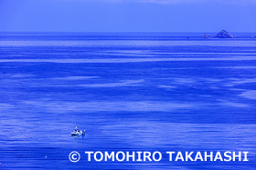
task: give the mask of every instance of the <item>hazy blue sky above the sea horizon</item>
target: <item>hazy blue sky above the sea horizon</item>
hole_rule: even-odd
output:
[[[0,0],[0,31],[256,32],[256,0]]]

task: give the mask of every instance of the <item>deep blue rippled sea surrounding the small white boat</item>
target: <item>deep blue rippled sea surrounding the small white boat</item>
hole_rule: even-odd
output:
[[[201,35],[1,33],[0,169],[254,170],[256,34]],[[86,135],[72,137],[76,126]],[[163,159],[89,162],[85,151]],[[170,162],[166,151],[249,161]]]

